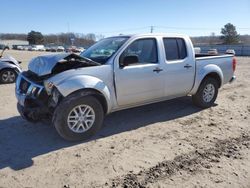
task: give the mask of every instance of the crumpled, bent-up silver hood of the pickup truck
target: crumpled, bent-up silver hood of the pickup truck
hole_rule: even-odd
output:
[[[60,53],[52,55],[44,55],[33,58],[29,63],[29,70],[37,76],[45,76],[52,73],[52,69],[61,60],[66,59],[83,59],[83,57],[72,53]]]

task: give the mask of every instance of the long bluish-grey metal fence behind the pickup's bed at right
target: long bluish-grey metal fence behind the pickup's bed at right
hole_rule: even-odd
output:
[[[206,45],[197,46],[201,53],[207,53],[209,49],[217,49],[219,53],[225,53],[228,49],[234,49],[237,56],[250,56],[250,45]]]

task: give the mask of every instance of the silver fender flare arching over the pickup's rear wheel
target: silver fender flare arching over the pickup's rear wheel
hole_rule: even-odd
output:
[[[216,74],[220,78],[221,85],[223,84],[224,76],[221,68],[215,64],[206,65],[201,70],[199,70],[199,72],[196,73],[195,83],[193,89],[190,92],[191,95],[195,94],[198,91],[201,82],[206,76],[210,74]]]

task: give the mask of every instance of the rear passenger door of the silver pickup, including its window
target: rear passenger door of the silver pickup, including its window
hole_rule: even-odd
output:
[[[195,61],[188,44],[183,38],[163,38],[165,96],[184,96],[193,87]]]

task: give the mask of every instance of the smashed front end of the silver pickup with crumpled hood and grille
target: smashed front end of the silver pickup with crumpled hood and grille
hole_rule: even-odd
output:
[[[51,120],[63,96],[47,80],[61,72],[82,67],[97,66],[89,59],[76,54],[57,54],[34,58],[29,70],[22,72],[16,81],[17,109],[21,116],[32,122]]]

